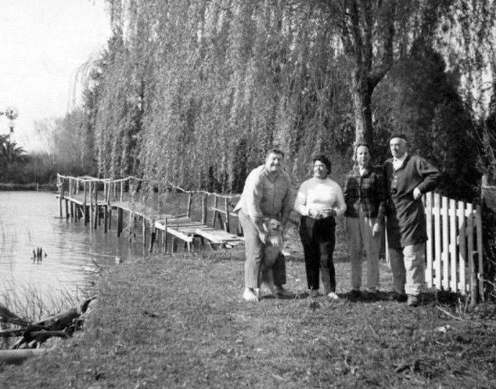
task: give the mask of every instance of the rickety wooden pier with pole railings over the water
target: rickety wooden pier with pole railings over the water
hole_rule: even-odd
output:
[[[161,252],[174,253],[178,241],[187,251],[194,249],[195,240],[211,248],[229,248],[243,242],[239,226],[236,234],[231,233],[231,222],[237,222],[237,215],[231,209],[239,194],[185,191],[169,186],[166,192],[157,193],[152,199],[138,192],[141,184],[141,179],[136,177],[98,179],[57,174],[59,217],[64,217],[65,209],[65,218],[83,219],[95,229],[103,225],[107,232],[112,228],[112,215],[116,215],[114,225],[118,237],[125,230],[127,218],[130,241],[141,224],[143,246],[148,244],[149,252],[160,247]],[[176,197],[185,198],[185,205]],[[223,208],[219,206],[220,201]],[[194,203],[199,203],[196,208]],[[172,243],[170,248],[169,243]]]

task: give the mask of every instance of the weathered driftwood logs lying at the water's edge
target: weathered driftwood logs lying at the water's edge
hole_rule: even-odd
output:
[[[19,328],[0,330],[0,338],[19,337],[10,350],[0,350],[0,363],[21,363],[32,355],[40,355],[49,348],[39,346],[52,337],[70,337],[81,327],[83,318],[91,301],[96,296],[83,301],[79,306],[63,310],[55,315],[37,321],[28,321],[0,304],[0,321],[14,324]]]

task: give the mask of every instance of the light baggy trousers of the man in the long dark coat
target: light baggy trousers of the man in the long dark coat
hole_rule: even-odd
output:
[[[393,272],[393,288],[407,295],[417,296],[425,283],[426,243],[404,248],[389,248],[389,261]]]

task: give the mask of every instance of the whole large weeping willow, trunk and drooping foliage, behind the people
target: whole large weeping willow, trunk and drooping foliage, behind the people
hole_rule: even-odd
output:
[[[273,146],[301,179],[312,154],[371,143],[371,97],[391,67],[433,46],[468,74],[494,15],[489,0],[107,3],[114,38],[93,104],[101,173],[223,191]]]

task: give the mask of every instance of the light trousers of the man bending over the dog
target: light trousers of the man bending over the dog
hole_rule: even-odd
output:
[[[260,288],[265,243],[260,240],[255,223],[242,210],[238,213],[238,219],[245,237],[245,287]],[[273,277],[276,286],[282,286],[286,283],[286,259],[284,255],[280,255],[276,260],[273,267]]]

